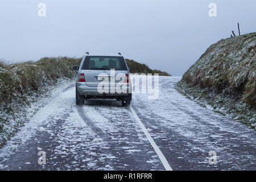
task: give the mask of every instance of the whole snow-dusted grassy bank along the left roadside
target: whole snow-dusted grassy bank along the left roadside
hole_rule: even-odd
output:
[[[36,62],[0,63],[0,146],[26,121],[26,110],[61,82],[73,80],[81,59],[43,58]]]

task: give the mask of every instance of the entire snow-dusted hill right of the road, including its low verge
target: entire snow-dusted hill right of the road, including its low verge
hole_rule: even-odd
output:
[[[256,32],[222,39],[184,73],[178,89],[222,114],[255,126]]]

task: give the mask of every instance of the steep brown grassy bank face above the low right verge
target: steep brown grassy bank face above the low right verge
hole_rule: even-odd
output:
[[[256,33],[222,39],[184,73],[181,82],[224,92],[256,106]]]

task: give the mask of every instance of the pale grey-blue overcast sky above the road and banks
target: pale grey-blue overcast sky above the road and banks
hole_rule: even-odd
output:
[[[46,17],[38,16],[41,2]],[[181,76],[238,22],[243,34],[255,32],[255,8],[255,0],[0,0],[0,59],[122,52]]]

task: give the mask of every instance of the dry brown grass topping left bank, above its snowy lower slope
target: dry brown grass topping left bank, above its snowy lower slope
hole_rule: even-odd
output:
[[[16,96],[26,97],[34,93],[43,93],[44,87],[54,85],[58,78],[72,78],[76,72],[72,70],[73,65],[79,64],[81,59],[68,57],[48,58],[45,57],[36,62],[25,62],[5,65],[0,74],[0,105],[1,109],[10,107],[17,102]],[[26,98],[19,100],[26,102]]]

